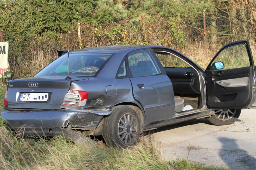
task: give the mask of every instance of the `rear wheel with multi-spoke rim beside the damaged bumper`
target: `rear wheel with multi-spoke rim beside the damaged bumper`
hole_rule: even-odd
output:
[[[126,148],[136,144],[139,127],[139,118],[131,107],[116,106],[104,120],[103,138],[109,146]]]

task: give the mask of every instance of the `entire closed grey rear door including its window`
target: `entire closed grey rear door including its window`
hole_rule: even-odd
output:
[[[150,49],[143,49],[131,52],[127,59],[133,95],[144,108],[145,123],[172,118],[175,107],[172,82],[160,71],[156,56]]]

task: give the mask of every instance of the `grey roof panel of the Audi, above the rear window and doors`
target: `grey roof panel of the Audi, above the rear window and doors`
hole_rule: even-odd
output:
[[[89,53],[89,52],[100,52],[100,53],[117,53],[120,51],[133,51],[143,48],[159,48],[163,46],[158,45],[110,45],[110,46],[101,46],[101,47],[92,47],[92,48],[83,48],[75,51],[70,51],[70,53]]]

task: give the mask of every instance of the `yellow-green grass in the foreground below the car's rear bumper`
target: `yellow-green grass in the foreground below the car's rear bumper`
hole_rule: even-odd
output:
[[[1,110],[5,91],[1,82]],[[61,136],[24,139],[11,134],[0,120],[0,169],[224,169],[203,167],[186,159],[163,160],[161,146],[151,136],[140,139],[133,148],[109,148],[102,142],[89,147]]]

